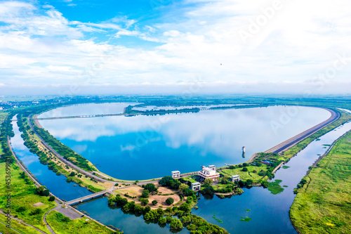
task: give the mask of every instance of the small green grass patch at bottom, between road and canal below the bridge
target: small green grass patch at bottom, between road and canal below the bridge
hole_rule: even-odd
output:
[[[71,220],[55,210],[46,216],[46,221],[56,234],[119,233],[86,218]]]

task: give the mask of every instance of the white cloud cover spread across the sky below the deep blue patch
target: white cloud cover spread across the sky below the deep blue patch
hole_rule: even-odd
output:
[[[126,17],[69,21],[51,6],[42,6],[41,11],[30,3],[2,2],[0,69],[6,73],[1,72],[1,82],[8,86],[24,80],[34,85],[147,82],[157,87],[178,80],[186,84],[200,75],[212,89],[223,91],[228,89],[219,84],[232,84],[228,85],[232,89],[234,84],[246,84],[247,90],[257,90],[253,86],[284,88],[283,84],[293,82],[307,89],[321,82],[316,77],[333,66],[336,54],[346,51],[351,57],[350,1],[282,0],[282,7],[257,33],[250,32],[246,43],[239,30],[249,32],[251,23],[262,18],[262,8],[272,7],[273,1],[187,0],[185,4],[192,7],[170,6],[176,10],[164,11],[157,23],[143,26]],[[97,33],[112,37],[97,42]],[[119,44],[123,40],[113,36],[158,44],[134,48]],[[322,82],[335,91],[336,84],[349,81],[350,67],[347,60],[333,79]]]

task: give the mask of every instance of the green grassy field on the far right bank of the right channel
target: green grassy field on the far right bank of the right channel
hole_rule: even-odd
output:
[[[290,209],[298,233],[351,233],[351,131],[305,179]]]

